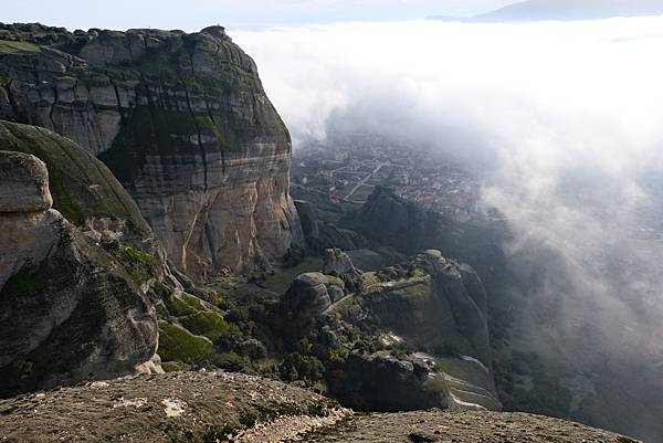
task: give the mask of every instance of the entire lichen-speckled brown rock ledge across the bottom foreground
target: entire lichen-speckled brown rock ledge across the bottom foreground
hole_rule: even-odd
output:
[[[171,372],[0,401],[0,442],[593,442],[634,440],[528,414],[354,414],[281,382]]]

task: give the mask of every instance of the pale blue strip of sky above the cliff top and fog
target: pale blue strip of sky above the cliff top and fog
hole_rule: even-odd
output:
[[[42,22],[70,29],[166,28],[192,31],[209,24],[229,29],[399,21],[428,15],[464,17],[515,0],[4,0],[3,22]]]

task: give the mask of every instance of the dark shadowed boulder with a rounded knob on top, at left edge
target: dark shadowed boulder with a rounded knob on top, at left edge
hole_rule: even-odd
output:
[[[0,151],[0,395],[131,373],[157,347],[139,283],[50,209],[48,182],[36,157]]]

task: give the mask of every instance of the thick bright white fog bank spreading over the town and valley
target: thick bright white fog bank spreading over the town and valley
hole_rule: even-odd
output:
[[[551,358],[600,350],[661,375],[663,17],[231,35],[255,57],[295,150],[375,131],[483,170],[484,202],[515,232],[505,250],[558,257],[533,297],[560,302],[556,323],[533,319],[526,333]],[[644,407],[663,415],[663,401]]]

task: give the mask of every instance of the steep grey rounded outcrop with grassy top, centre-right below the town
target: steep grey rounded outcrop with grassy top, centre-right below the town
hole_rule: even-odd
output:
[[[470,356],[491,368],[486,293],[474,271],[439,251],[418,255],[406,270],[385,270],[387,281],[361,294],[382,327],[420,348]]]

